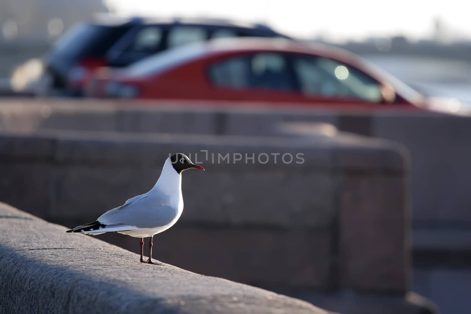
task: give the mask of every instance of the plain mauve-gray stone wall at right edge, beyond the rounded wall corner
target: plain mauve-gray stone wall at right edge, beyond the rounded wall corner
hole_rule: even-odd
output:
[[[410,151],[414,222],[471,223],[470,117],[376,113],[372,135],[402,143]]]

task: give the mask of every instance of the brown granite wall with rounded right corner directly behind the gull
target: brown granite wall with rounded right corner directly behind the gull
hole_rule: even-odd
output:
[[[54,108],[38,110],[43,117],[55,114]],[[79,120],[84,113],[77,107],[64,110],[78,111]],[[119,114],[127,114],[123,112]],[[34,109],[30,113],[29,118],[16,116],[28,120],[17,123],[31,126],[37,116]],[[204,114],[214,118],[209,109]],[[1,201],[49,221],[77,225],[149,190],[169,153],[199,153],[207,171],[184,173],[184,213],[177,225],[155,237],[154,258],[292,295],[309,291],[303,298],[344,314],[378,313],[378,308],[391,314],[433,311],[410,293],[408,157],[403,146],[329,126],[316,134],[249,137],[93,127],[77,131],[83,123],[73,128],[76,120],[70,119],[55,129],[4,129]],[[181,119],[174,123],[184,127],[195,120]],[[154,124],[149,120],[148,125]],[[273,132],[279,134],[279,125],[273,125]],[[202,150],[210,154],[208,160]],[[228,154],[230,160],[212,162],[211,153]],[[268,162],[259,162],[264,153]],[[276,153],[277,161],[271,158]],[[284,163],[279,159],[284,153],[302,153],[304,161]],[[235,161],[235,154],[242,160]],[[245,156],[255,160],[245,162]],[[102,238],[138,251],[136,239],[119,234]]]

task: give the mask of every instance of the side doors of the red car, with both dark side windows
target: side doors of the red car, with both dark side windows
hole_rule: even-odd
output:
[[[208,68],[217,99],[362,105],[383,102],[382,84],[357,68],[310,54],[259,52]]]

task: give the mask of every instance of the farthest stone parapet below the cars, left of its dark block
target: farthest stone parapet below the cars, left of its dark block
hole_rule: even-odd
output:
[[[198,101],[33,101],[9,99],[0,103],[0,130],[39,129],[119,132],[169,132],[217,135],[272,135],[282,121],[325,121],[337,125],[330,109],[260,106]]]

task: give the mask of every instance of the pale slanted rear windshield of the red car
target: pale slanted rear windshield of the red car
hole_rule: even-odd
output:
[[[206,51],[206,49],[204,49],[204,46],[201,44],[169,49],[131,64],[126,68],[126,73],[130,76],[147,76],[162,72],[176,64],[193,60],[203,55],[204,51]]]

